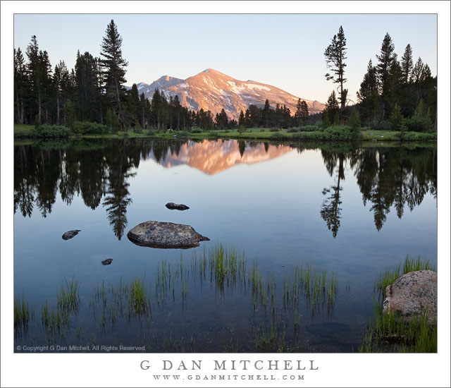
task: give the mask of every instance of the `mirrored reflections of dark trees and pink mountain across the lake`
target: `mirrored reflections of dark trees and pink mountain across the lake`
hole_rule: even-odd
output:
[[[342,219],[342,184],[350,171],[357,179],[364,205],[369,204],[378,231],[390,207],[401,218],[406,205],[412,211],[427,193],[436,198],[436,147],[273,145],[245,140],[80,140],[14,147],[14,212],[31,217],[37,210],[47,217],[57,193],[67,205],[75,195],[81,195],[92,210],[99,205],[105,208],[114,235],[121,239],[128,224],[127,208],[132,203],[130,180],[137,176],[141,160],[154,159],[167,168],[186,164],[214,175],[238,164],[268,161],[293,150],[321,152],[330,185],[323,189],[323,195],[318,193],[319,214],[334,238]]]

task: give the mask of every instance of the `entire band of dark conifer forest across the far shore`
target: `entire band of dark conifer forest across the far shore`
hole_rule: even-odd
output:
[[[299,99],[291,112],[285,105],[264,107],[250,105],[240,112],[237,121],[229,120],[226,111],[194,111],[182,107],[177,95],[167,98],[156,89],[152,100],[139,93],[137,85],[125,87],[128,62],[123,59],[122,38],[113,20],[101,41],[100,56],[78,51],[75,67],[64,61],[52,67],[47,51],[39,49],[32,36],[25,56],[14,49],[14,120],[34,124],[47,131],[69,129],[75,133],[103,133],[142,129],[211,131],[224,128],[295,128],[314,125],[318,129],[347,125],[352,128],[431,131],[436,128],[437,78],[431,75],[421,58],[413,61],[412,47],[407,45],[399,61],[390,35],[385,35],[378,63],[369,61],[367,72],[357,92],[358,102],[348,106],[346,78],[346,40],[340,27],[325,51],[331,73],[328,80],[338,84],[330,94],[326,109],[309,115],[307,103]],[[52,127],[49,127],[52,126]],[[58,127],[63,126],[63,127]],[[312,130],[311,128],[309,129]]]

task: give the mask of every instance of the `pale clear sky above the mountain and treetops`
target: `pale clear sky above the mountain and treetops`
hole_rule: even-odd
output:
[[[214,68],[256,80],[298,97],[326,102],[336,87],[326,81],[324,50],[340,25],[347,39],[349,97],[356,99],[369,59],[377,62],[385,32],[399,57],[408,43],[437,74],[435,15],[22,15],[14,18],[14,46],[24,52],[32,35],[52,66],[73,68],[77,50],[99,56],[114,19],[128,60],[127,85],[161,75],[187,78]],[[26,56],[25,56],[26,58]]]

